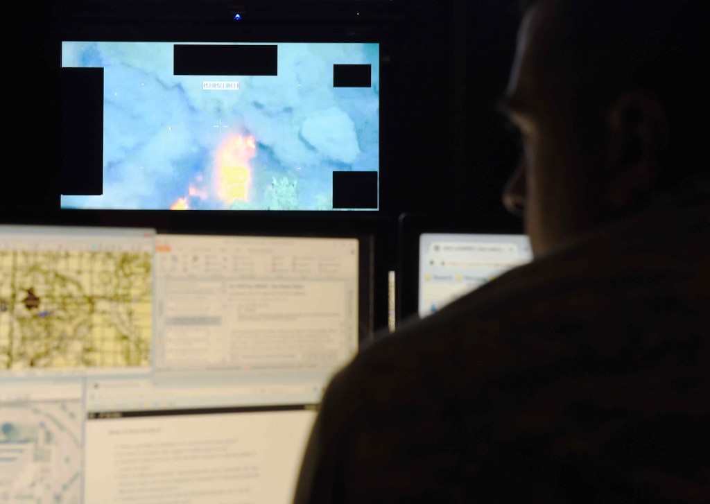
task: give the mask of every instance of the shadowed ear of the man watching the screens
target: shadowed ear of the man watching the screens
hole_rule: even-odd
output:
[[[668,149],[668,123],[660,102],[650,94],[630,92],[609,107],[607,197],[616,211],[633,207],[648,195],[662,170]]]

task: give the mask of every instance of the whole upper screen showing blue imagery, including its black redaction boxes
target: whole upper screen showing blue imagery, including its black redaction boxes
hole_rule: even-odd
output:
[[[377,210],[379,43],[61,43],[65,209]]]

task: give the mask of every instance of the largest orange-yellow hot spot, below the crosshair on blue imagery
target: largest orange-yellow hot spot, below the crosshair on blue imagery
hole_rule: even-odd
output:
[[[237,199],[249,201],[251,166],[249,161],[256,155],[253,136],[230,136],[219,146],[215,158],[215,190],[217,197],[230,204]]]

